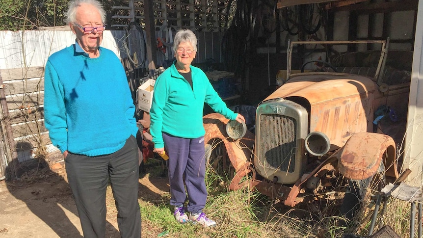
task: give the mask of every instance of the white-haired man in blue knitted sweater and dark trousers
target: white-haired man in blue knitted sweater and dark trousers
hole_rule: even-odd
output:
[[[135,106],[118,57],[100,47],[105,11],[72,0],[66,20],[76,42],[46,64],[45,124],[65,158],[85,238],[104,238],[110,182],[122,238],[140,238]]]

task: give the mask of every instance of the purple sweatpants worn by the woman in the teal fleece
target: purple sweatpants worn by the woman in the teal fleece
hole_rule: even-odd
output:
[[[204,136],[195,139],[163,134],[164,148],[169,159],[170,205],[181,206],[188,194],[188,212],[197,213],[206,205],[207,189]],[[185,192],[185,186],[186,192]]]

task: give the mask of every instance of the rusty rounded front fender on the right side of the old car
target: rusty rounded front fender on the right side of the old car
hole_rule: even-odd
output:
[[[383,161],[386,176],[398,178],[396,147],[391,136],[371,132],[353,134],[338,158],[338,170],[348,179],[363,180],[374,175]]]

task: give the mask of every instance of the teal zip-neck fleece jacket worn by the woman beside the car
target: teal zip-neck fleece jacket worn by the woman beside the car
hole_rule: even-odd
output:
[[[188,139],[204,136],[204,103],[230,120],[235,120],[238,115],[217,95],[201,69],[190,66],[191,88],[177,71],[175,63],[159,76],[154,85],[150,132],[155,148],[164,147],[162,132]]]

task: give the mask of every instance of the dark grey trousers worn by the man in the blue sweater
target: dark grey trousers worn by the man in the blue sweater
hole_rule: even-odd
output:
[[[138,147],[135,137],[113,154],[87,157],[69,153],[65,159],[84,238],[106,235],[106,189],[113,191],[122,238],[141,237],[138,204]]]

